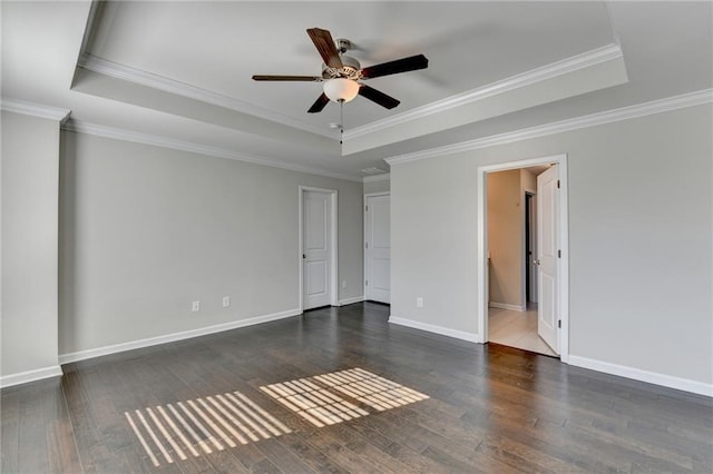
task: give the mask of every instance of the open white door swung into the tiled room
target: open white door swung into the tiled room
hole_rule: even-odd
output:
[[[537,333],[559,354],[559,196],[558,169],[537,177]]]

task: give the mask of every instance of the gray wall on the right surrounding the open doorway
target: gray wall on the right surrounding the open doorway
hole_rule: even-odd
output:
[[[392,165],[392,315],[476,334],[477,168],[566,152],[570,355],[712,383],[712,121],[697,106]]]

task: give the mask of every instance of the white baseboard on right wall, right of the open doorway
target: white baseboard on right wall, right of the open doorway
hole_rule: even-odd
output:
[[[604,361],[575,355],[569,356],[569,365],[713,397],[713,384],[705,384],[703,382],[691,381],[688,378],[674,377],[672,375],[643,371],[641,368],[612,364]]]

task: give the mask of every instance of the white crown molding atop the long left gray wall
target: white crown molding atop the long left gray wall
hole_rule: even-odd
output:
[[[111,138],[115,140],[131,141],[135,144],[150,145],[154,147],[169,148],[178,151],[187,151],[191,154],[206,155],[216,158],[232,159],[236,161],[250,162],[253,165],[268,166],[271,168],[281,168],[290,171],[306,172],[310,175],[325,176],[328,178],[344,179],[348,181],[361,182],[361,177],[352,175],[324,171],[306,166],[292,165],[282,161],[275,161],[270,158],[244,155],[224,148],[209,147],[206,145],[192,144],[188,141],[175,140],[173,138],[159,137],[157,135],[140,134],[137,131],[125,130],[120,128],[105,127],[101,125],[88,124],[84,121],[69,120],[62,126],[62,130],[74,131],[77,134],[94,135],[97,137]]]

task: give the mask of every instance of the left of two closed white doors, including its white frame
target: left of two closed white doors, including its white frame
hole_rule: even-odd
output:
[[[300,187],[300,307],[338,306],[336,190]]]

